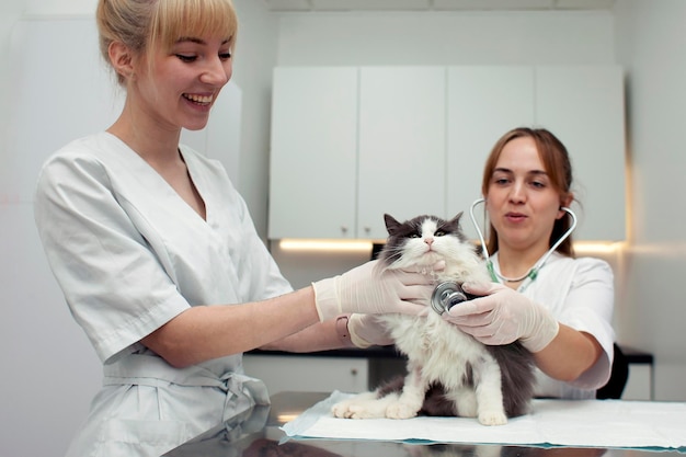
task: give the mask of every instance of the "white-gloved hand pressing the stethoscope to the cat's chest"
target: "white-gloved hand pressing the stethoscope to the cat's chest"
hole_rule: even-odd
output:
[[[547,308],[507,286],[466,283],[462,288],[479,298],[454,306],[443,313],[443,318],[484,344],[508,344],[519,340],[530,352],[538,352],[560,330]]]

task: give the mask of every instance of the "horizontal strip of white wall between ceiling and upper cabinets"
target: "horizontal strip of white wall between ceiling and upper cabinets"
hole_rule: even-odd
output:
[[[278,65],[614,62],[609,12],[284,14]]]

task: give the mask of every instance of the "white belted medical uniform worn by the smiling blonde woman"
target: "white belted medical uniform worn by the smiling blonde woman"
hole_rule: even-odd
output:
[[[264,385],[242,355],[183,369],[139,343],[196,305],[291,290],[224,168],[181,147],[206,220],[107,133],[47,160],[35,217],[69,308],[104,364],[104,382],[69,456],[159,456],[252,404]]]

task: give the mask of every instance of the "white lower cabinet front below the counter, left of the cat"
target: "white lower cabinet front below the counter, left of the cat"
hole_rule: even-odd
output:
[[[365,357],[243,355],[245,374],[262,379],[270,395],[282,391],[363,392],[369,389]]]

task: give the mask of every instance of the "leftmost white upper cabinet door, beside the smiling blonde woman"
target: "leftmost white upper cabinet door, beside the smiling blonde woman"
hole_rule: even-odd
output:
[[[274,71],[268,238],[352,238],[357,69]]]

